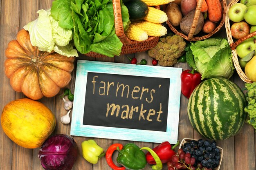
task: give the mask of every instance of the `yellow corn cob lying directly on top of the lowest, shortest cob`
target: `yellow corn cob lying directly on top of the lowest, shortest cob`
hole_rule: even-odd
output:
[[[132,21],[132,24],[139,26],[146,31],[149,36],[160,37],[167,33],[167,29],[161,24],[155,24],[148,21]]]

